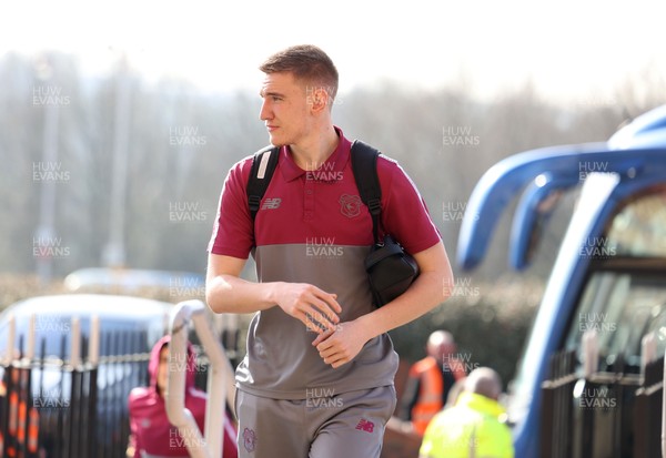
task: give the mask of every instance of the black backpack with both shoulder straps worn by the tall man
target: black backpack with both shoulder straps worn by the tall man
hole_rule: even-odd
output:
[[[365,258],[365,271],[374,296],[375,306],[393,301],[404,293],[418,276],[418,266],[414,258],[393,240],[391,235],[380,238],[382,214],[382,187],[377,176],[377,156],[380,152],[371,145],[355,140],[352,143],[351,159],[354,180],[361,201],[372,216],[374,245]],[[248,205],[252,221],[261,207],[269,183],[278,165],[280,147],[266,146],[254,153],[248,181]]]

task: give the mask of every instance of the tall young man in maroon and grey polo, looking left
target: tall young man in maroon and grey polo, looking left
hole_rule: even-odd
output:
[[[389,330],[447,298],[453,275],[425,203],[400,165],[381,155],[383,232],[410,252],[420,276],[381,308],[363,259],[373,244],[351,142],[333,124],[337,70],[313,45],[270,57],[260,95],[279,161],[253,221],[252,156],[229,172],[209,245],[206,302],[255,313],[236,369],[242,457],[379,457],[395,408],[397,355]],[[258,282],[240,277],[249,255]]]

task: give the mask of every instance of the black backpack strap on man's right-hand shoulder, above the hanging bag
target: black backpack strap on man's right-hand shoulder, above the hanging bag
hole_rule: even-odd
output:
[[[382,214],[382,187],[377,176],[377,156],[380,151],[367,143],[354,140],[352,143],[352,171],[361,201],[372,216],[372,232],[375,243],[380,243],[380,215]]]

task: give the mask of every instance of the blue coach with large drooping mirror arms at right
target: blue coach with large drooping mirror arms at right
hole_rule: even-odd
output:
[[[508,257],[527,266],[564,195],[575,205],[509,389],[516,457],[662,457],[666,105],[607,142],[491,167],[467,204],[461,267],[483,261],[514,203]]]

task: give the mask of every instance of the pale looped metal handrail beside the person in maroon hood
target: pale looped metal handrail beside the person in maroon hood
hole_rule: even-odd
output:
[[[167,416],[169,421],[178,427],[181,436],[186,438],[184,445],[193,458],[222,456],[226,417],[224,401],[226,399],[230,405],[233,403],[232,390],[226,389],[229,380],[232,380],[230,386],[233,386],[233,369],[214,329],[209,325],[204,312],[205,305],[201,301],[181,302],[173,311],[170,328],[170,360],[188,360],[188,325],[191,320],[211,362],[203,437],[192,413],[185,407],[186,368],[179,365],[180,370],[169,370],[165,396]]]

